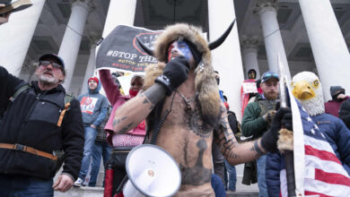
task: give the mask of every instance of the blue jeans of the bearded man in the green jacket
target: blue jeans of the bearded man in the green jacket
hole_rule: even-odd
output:
[[[266,166],[267,166],[267,156],[261,156],[257,160],[258,167],[258,196],[268,197],[267,193],[267,179],[266,179]]]

